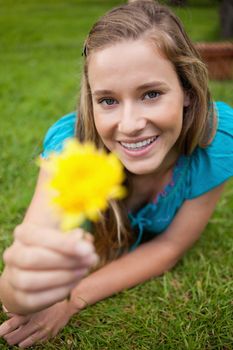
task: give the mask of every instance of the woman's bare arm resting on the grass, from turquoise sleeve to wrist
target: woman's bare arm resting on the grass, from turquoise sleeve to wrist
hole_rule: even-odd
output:
[[[222,191],[223,185],[186,201],[161,236],[84,278],[72,291],[77,309],[85,307],[79,296],[91,305],[172,268],[200,237]]]

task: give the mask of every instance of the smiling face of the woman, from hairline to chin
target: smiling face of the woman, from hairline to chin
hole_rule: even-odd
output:
[[[91,55],[88,79],[105,146],[134,174],[164,169],[188,105],[172,63],[147,41],[125,41]]]

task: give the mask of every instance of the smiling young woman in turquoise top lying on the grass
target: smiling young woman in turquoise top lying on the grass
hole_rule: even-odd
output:
[[[173,267],[233,175],[233,110],[213,103],[207,69],[167,7],[137,0],[113,9],[94,24],[83,54],[78,113],[51,127],[41,156],[61,152],[70,137],[91,141],[118,156],[128,196],[109,202],[92,235],[64,236],[42,169],[4,253],[0,298],[14,315],[0,335],[11,345],[46,340],[85,307]],[[68,195],[80,185],[73,182]]]

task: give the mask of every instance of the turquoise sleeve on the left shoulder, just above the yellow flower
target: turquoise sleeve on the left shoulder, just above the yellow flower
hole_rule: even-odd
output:
[[[44,142],[42,158],[48,158],[51,152],[61,152],[64,141],[75,136],[76,113],[70,113],[59,119],[47,131]]]

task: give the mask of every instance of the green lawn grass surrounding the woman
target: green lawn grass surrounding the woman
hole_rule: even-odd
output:
[[[0,0],[0,254],[32,196],[44,133],[75,109],[85,35],[118,3]],[[193,40],[219,40],[216,7],[176,11]],[[210,87],[233,105],[232,81]],[[233,349],[232,210],[231,181],[175,269],[83,311],[35,349]],[[9,349],[2,339],[0,348]]]

